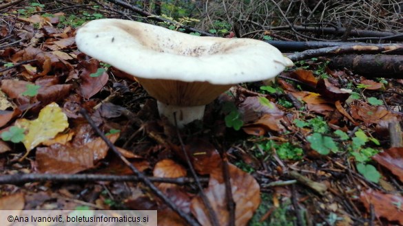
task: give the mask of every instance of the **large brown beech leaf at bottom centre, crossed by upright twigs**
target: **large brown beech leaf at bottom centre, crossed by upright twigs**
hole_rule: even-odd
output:
[[[229,164],[229,177],[231,192],[236,203],[235,225],[247,225],[260,204],[260,188],[254,177],[243,172],[234,165]],[[209,187],[205,189],[205,195],[218,216],[220,225],[228,225],[229,212],[225,196],[225,182],[223,171],[216,170],[211,173]],[[211,225],[207,210],[200,196],[192,200],[191,210],[201,225]]]

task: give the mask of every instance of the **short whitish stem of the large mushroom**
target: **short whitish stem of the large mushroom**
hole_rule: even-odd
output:
[[[158,112],[168,118],[169,122],[175,124],[176,113],[176,124],[178,128],[183,128],[185,124],[193,122],[194,120],[203,120],[205,115],[205,105],[199,106],[175,106],[164,104],[163,102],[157,101]]]

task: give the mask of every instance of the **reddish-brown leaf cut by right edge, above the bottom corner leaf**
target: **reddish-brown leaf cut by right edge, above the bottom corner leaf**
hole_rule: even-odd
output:
[[[372,159],[391,170],[403,182],[403,148],[389,148],[374,155]]]

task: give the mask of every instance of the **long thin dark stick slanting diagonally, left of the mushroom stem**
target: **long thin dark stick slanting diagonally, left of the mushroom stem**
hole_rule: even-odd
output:
[[[87,114],[87,111],[85,111],[85,109],[81,109],[80,113],[81,113],[81,115],[83,115],[83,117],[85,117],[85,120],[87,120],[87,122],[90,124],[90,126],[103,139],[103,141],[107,144],[107,146],[110,147],[110,149],[112,149],[112,151],[115,153],[115,155],[117,155],[126,164],[126,166],[128,166],[130,168],[130,170],[132,170],[134,172],[136,177],[138,177],[139,181],[141,181],[145,185],[147,185],[147,187],[150,190],[152,190],[152,192],[154,192],[154,194],[156,196],[158,196],[158,198],[162,199],[165,202],[165,204],[167,204],[168,207],[170,207],[172,210],[174,210],[174,212],[176,212],[181,218],[183,218],[183,220],[185,220],[189,225],[192,225],[192,226],[200,225],[194,218],[192,218],[191,216],[189,216],[188,214],[185,214],[185,212],[180,210],[178,206],[176,206],[165,194],[163,194],[163,192],[161,192],[161,190],[159,190],[156,187],[156,185],[154,185],[154,183],[152,183],[152,181],[150,181],[147,177],[145,177],[145,175],[142,172],[140,172],[135,166],[133,166],[132,163],[130,163],[130,161],[128,161],[121,154],[121,152],[119,152],[116,149],[114,144],[112,144],[112,142],[110,142],[110,140],[107,139],[105,137],[105,135],[102,133],[102,131],[95,125],[94,121],[92,121],[92,119]]]

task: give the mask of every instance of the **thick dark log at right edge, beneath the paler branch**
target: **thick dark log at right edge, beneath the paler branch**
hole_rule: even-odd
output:
[[[330,68],[345,67],[360,76],[403,78],[403,55],[344,54],[330,59]]]

